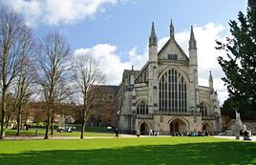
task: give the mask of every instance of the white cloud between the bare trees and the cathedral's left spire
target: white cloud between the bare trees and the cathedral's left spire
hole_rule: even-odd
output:
[[[118,85],[121,82],[122,72],[131,70],[134,66],[135,70],[140,70],[147,61],[147,52],[139,54],[137,47],[127,52],[128,61],[120,59],[120,53],[117,47],[110,44],[97,44],[92,48],[81,48],[75,50],[75,55],[85,54],[93,56],[99,64],[99,68],[105,73],[107,84]]]

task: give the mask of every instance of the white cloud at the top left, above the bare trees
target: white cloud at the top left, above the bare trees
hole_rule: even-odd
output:
[[[73,24],[96,12],[104,12],[105,5],[123,3],[122,0],[0,0],[3,5],[25,16],[30,26]]]

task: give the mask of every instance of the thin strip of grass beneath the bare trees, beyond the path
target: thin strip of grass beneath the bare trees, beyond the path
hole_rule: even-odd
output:
[[[16,135],[16,130],[6,130],[6,135]],[[51,132],[50,132],[51,133]],[[30,129],[29,131],[21,130],[20,134],[22,136],[34,136],[35,135],[35,129]],[[44,129],[38,129],[37,134],[39,136],[44,136],[45,130]],[[73,133],[58,133],[54,131],[53,136],[80,136],[80,132],[73,132]],[[85,136],[114,136],[114,134],[107,134],[107,133],[91,133],[86,132]]]

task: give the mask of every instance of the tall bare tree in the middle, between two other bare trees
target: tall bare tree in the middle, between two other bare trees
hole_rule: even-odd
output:
[[[47,105],[48,119],[45,138],[48,139],[53,117],[53,105],[59,93],[58,87],[64,84],[69,71],[70,46],[59,32],[53,32],[41,41],[38,54],[38,84],[41,86]]]

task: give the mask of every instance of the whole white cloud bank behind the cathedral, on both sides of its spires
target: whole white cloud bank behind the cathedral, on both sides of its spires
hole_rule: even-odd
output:
[[[221,77],[224,76],[220,65],[218,64],[217,57],[220,55],[219,51],[215,50],[215,40],[222,40],[224,36],[221,33],[224,32],[222,25],[215,25],[213,23],[206,24],[204,26],[194,27],[194,33],[197,40],[198,47],[198,62],[199,62],[199,84],[208,86],[209,71],[212,71],[214,78],[215,90],[219,93],[221,102],[227,97],[226,88]],[[177,32],[175,38],[180,44],[183,51],[188,55],[188,40],[190,36],[190,29],[186,31]],[[159,41],[159,48],[166,43],[168,37],[163,37]],[[106,74],[107,83],[119,84],[123,70],[131,69],[134,65],[135,69],[139,70],[143,67],[148,59],[147,50],[143,53],[139,53],[137,47],[134,47],[129,52],[129,59],[122,61],[120,59],[120,52],[117,52],[117,46],[110,44],[98,44],[92,48],[78,49],[75,54],[86,53],[92,55],[99,61],[101,70]]]

